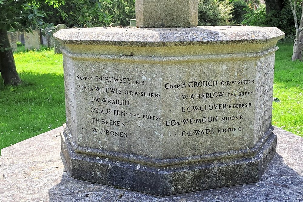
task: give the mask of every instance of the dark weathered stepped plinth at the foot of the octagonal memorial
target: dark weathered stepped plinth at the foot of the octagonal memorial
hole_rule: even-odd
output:
[[[159,196],[258,182],[277,143],[271,132],[255,155],[160,167],[75,152],[66,130],[61,149],[73,178]]]

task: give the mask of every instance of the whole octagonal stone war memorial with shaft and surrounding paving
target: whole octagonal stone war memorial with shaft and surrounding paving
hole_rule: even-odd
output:
[[[137,0],[136,26],[58,25],[66,124],[1,150],[0,201],[303,201],[303,139],[271,125],[284,33],[197,26],[197,7]]]

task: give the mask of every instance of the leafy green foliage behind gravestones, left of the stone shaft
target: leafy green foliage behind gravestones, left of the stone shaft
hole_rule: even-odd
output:
[[[135,18],[135,0],[70,0],[58,8],[46,5],[48,23],[65,24],[68,27],[100,27],[112,22],[129,25]]]

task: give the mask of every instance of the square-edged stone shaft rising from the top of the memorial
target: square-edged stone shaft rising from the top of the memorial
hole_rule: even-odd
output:
[[[136,0],[137,27],[196,27],[198,0]]]

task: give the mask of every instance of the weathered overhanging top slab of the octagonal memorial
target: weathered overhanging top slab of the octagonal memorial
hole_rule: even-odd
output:
[[[273,27],[198,26],[192,28],[77,28],[62,29],[54,37],[64,44],[164,47],[201,44],[264,44],[285,34]]]

